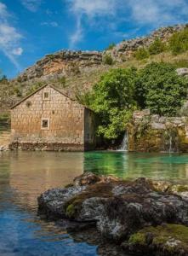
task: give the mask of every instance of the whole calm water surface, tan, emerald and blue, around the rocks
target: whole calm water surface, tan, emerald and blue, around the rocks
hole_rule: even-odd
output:
[[[37,218],[37,196],[83,172],[188,182],[188,154],[0,153],[0,255],[98,255],[54,223]]]

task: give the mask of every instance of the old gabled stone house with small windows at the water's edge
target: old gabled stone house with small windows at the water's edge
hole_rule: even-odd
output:
[[[44,85],[11,108],[10,148],[83,151],[95,147],[94,113]]]

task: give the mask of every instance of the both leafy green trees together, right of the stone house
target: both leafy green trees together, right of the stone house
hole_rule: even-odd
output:
[[[166,116],[179,114],[188,80],[175,68],[153,62],[139,71],[117,68],[105,73],[93,91],[82,98],[99,115],[98,135],[107,139],[121,136],[136,108],[150,108],[151,113]]]

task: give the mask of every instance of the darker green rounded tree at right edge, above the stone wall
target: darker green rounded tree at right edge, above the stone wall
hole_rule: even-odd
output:
[[[174,116],[186,98],[188,80],[180,77],[173,65],[153,62],[140,70],[135,86],[140,108]]]

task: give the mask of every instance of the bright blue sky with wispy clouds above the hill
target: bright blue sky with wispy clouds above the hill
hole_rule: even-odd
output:
[[[188,0],[0,0],[0,69],[13,78],[60,49],[112,42],[188,21]]]

